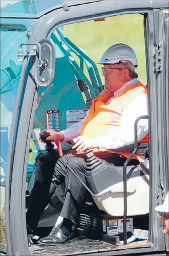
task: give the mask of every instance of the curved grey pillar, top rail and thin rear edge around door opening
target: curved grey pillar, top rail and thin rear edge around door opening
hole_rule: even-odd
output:
[[[165,6],[164,1],[161,1],[161,5]],[[152,101],[153,96],[157,97],[157,81],[156,74],[152,72],[151,66],[153,65],[152,50],[154,45],[157,44],[157,36],[154,31],[155,17],[159,12],[159,9],[152,9],[152,2],[150,1],[100,1],[95,3],[79,4],[76,6],[69,7],[69,11],[63,11],[62,8],[47,11],[46,15],[41,16],[34,25],[31,27],[31,33],[29,42],[38,42],[41,39],[49,38],[52,31],[61,25],[98,19],[102,16],[114,16],[119,14],[130,14],[130,13],[146,13],[146,35],[147,35],[147,61],[148,61],[148,81],[150,89],[150,113],[151,113],[151,141],[157,147],[158,144],[158,131],[157,115],[155,107],[156,103]],[[156,4],[155,4],[156,5]],[[142,7],[143,6],[143,7]],[[129,9],[131,8],[131,9]],[[156,7],[157,8],[157,7]],[[44,27],[44,24],[46,26]],[[153,37],[152,37],[153,34]],[[28,47],[28,52],[30,47]],[[25,62],[24,62],[25,63]],[[7,242],[8,242],[8,254],[9,255],[29,255],[29,247],[27,242],[27,231],[26,231],[26,216],[25,216],[25,191],[26,191],[26,172],[27,172],[27,161],[29,155],[29,143],[31,139],[31,132],[33,127],[35,105],[38,96],[38,88],[34,82],[33,76],[35,74],[35,63],[34,57],[28,59],[28,65],[23,65],[22,74],[25,74],[26,78],[20,78],[20,88],[22,94],[18,96],[18,104],[16,107],[15,115],[16,121],[12,126],[12,140],[10,141],[8,167],[7,167],[7,187],[6,187],[6,220],[7,220]],[[24,82],[24,83],[23,83]],[[155,148],[156,148],[155,147]],[[151,225],[151,239],[152,247],[150,248],[139,248],[126,250],[126,251],[110,251],[107,255],[115,254],[132,254],[132,253],[145,253],[159,250],[161,247],[158,246],[159,234],[157,229],[159,224],[154,220],[156,217],[153,211],[156,204],[156,195],[158,188],[158,179],[155,177],[159,173],[158,149],[153,149],[150,143],[150,153],[152,154],[154,161],[151,162],[151,167],[154,168],[152,174],[152,193],[151,193],[151,209],[150,215],[152,216]],[[155,184],[154,184],[155,181]],[[10,202],[10,203],[9,203]],[[9,206],[10,204],[10,206]],[[151,211],[152,210],[152,211]],[[152,213],[153,212],[153,213]],[[154,231],[155,230],[155,231]],[[153,235],[152,235],[153,234]],[[162,248],[163,250],[163,248]],[[89,255],[89,254],[88,254]]]

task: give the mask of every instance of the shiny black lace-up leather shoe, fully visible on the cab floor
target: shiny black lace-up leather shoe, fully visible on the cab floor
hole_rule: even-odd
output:
[[[68,230],[65,227],[54,227],[51,233],[39,240],[39,243],[45,245],[56,245],[56,244],[66,244],[73,240],[77,240],[77,230]]]

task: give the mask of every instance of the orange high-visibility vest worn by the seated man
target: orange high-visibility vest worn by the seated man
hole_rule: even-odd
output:
[[[95,138],[107,133],[110,125],[114,125],[115,132],[118,132],[120,121],[122,117],[122,112],[129,106],[129,104],[136,99],[140,94],[147,94],[146,87],[140,82],[136,84],[131,84],[126,86],[120,93],[118,93],[112,100],[109,102],[109,99],[104,101],[107,98],[109,92],[106,91],[103,94],[99,95],[92,101],[92,105],[89,111],[89,114],[83,123],[82,130],[80,135],[87,136],[90,138]],[[107,102],[107,103],[106,103]],[[109,103],[108,103],[109,102]],[[132,115],[132,113],[131,113]],[[149,133],[141,140],[139,143],[149,142]],[[93,152],[98,151],[107,151],[113,154],[120,154],[125,157],[129,157],[133,151],[133,146],[128,147],[124,146],[120,149],[107,149],[107,150],[98,150],[92,149]],[[81,154],[81,152],[77,152]],[[133,159],[137,159],[137,156],[145,154],[136,154]]]

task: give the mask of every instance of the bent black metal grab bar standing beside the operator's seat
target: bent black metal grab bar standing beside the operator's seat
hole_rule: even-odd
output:
[[[132,154],[126,159],[123,165],[123,196],[124,196],[124,214],[123,214],[123,233],[124,233],[124,244],[127,244],[127,232],[126,232],[126,216],[127,216],[127,210],[128,210],[128,200],[127,200],[127,175],[126,175],[126,167],[128,166],[128,163],[132,159],[132,157],[136,154],[138,150],[138,137],[137,137],[137,131],[138,131],[138,122],[141,119],[149,119],[149,116],[141,116],[138,117],[134,123],[134,150]]]

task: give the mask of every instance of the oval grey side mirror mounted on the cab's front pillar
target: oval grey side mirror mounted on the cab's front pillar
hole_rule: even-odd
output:
[[[39,58],[40,52],[38,51],[35,81],[38,86],[45,87],[53,82],[55,75],[55,47],[53,42],[48,39],[40,40],[38,43],[41,46],[41,58]]]

